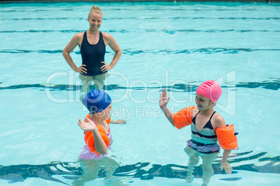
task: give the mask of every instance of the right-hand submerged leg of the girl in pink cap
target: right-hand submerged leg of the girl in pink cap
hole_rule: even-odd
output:
[[[210,178],[214,174],[214,170],[212,167],[213,161],[217,158],[218,153],[210,153],[201,155],[201,159],[203,160],[202,169],[203,169],[203,186],[208,185],[210,183]]]

